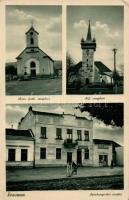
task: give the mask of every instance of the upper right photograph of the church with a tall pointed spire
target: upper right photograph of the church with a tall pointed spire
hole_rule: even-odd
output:
[[[67,94],[123,94],[124,6],[67,6]]]

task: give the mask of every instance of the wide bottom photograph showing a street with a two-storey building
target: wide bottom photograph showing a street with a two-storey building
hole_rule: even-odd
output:
[[[6,191],[123,190],[123,107],[7,104]]]

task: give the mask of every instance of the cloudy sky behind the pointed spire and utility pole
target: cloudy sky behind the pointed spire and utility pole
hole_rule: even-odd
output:
[[[113,48],[117,48],[117,69],[123,71],[123,6],[68,6],[67,8],[67,51],[75,62],[82,60],[80,41],[86,38],[89,20],[92,37],[97,48],[95,61],[102,61],[113,69]]]

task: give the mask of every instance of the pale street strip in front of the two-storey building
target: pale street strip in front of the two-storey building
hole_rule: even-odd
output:
[[[115,176],[123,175],[123,167],[79,167],[77,175],[70,178],[78,177],[101,177],[101,176]],[[69,177],[66,176],[66,168],[35,168],[35,169],[7,169],[6,181],[35,181],[35,180],[53,180]]]

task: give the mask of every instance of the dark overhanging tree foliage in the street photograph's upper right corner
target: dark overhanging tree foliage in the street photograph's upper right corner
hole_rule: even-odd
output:
[[[87,103],[80,104],[76,108],[81,112],[89,112],[92,117],[106,125],[122,127],[124,124],[123,103]]]

